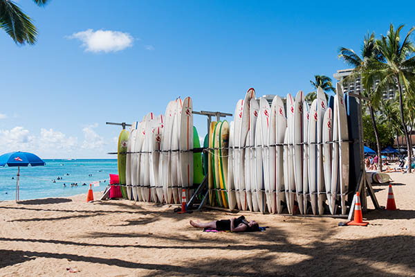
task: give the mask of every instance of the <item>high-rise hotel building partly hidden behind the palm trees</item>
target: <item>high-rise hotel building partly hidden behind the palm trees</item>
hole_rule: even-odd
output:
[[[340,82],[343,81],[344,92],[360,93],[363,91],[361,76],[355,78],[354,80],[344,80],[352,73],[352,71],[353,69],[340,69],[333,74],[333,77]],[[376,84],[378,83],[379,81],[376,81]],[[396,90],[396,85],[389,85],[389,87],[383,91],[382,100],[394,99]]]

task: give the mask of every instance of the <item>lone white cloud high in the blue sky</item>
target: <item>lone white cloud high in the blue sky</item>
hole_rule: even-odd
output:
[[[82,32],[73,33],[69,39],[79,39],[86,51],[117,52],[133,46],[133,37],[129,33],[122,33],[113,30],[88,29]]]

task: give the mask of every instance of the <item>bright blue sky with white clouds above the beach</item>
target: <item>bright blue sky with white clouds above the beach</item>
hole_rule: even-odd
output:
[[[340,46],[415,25],[413,1],[16,2],[39,37],[17,46],[0,29],[0,153],[44,159],[115,158],[121,127],[107,121],[164,114],[178,96],[233,114],[250,87],[308,93],[314,75],[349,68]],[[194,125],[206,134],[205,116]]]

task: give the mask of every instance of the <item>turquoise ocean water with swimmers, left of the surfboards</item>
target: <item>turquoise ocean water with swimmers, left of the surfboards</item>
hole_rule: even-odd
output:
[[[20,168],[20,199],[66,197],[87,193],[93,181],[100,181],[94,191],[109,184],[109,174],[118,174],[116,159],[45,159],[46,166]],[[67,175],[68,174],[68,175]],[[14,200],[17,167],[0,167],[0,201]],[[91,175],[91,176],[90,176]],[[15,179],[12,179],[14,177]],[[62,180],[57,180],[62,177]],[[53,183],[55,179],[56,183]],[[77,183],[77,187],[71,187]],[[63,184],[66,184],[64,188]]]

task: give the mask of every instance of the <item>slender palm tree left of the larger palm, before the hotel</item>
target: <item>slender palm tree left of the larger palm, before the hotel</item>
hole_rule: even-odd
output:
[[[356,54],[352,49],[340,47],[339,49],[339,58],[343,59],[344,62],[354,66],[353,73],[349,75],[349,79],[353,79],[358,77],[358,75],[364,75],[366,71],[370,70],[369,61],[374,60],[381,60],[381,57],[376,49],[376,40],[375,34],[367,33],[363,40],[363,46],[361,51],[361,57]],[[382,93],[380,91],[375,91],[373,85],[374,83],[367,83],[365,80],[362,80],[363,88],[362,95],[369,99],[365,103],[367,109],[369,109],[369,114],[371,118],[371,123],[374,127],[375,137],[376,137],[376,147],[378,148],[378,168],[380,172],[382,172],[382,155],[380,154],[380,138],[378,127],[376,125],[376,118],[375,118],[375,109],[378,109],[380,105],[380,100],[382,97]]]

